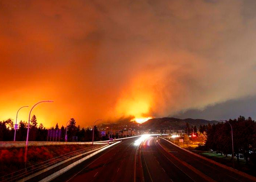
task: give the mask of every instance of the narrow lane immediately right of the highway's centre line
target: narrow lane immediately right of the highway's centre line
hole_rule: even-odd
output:
[[[149,142],[148,142],[149,141]],[[154,147],[154,137],[147,139],[141,144],[141,161],[144,173],[144,181],[147,182],[172,182],[172,179],[166,174],[166,171],[162,168],[157,161],[155,154],[158,151]]]

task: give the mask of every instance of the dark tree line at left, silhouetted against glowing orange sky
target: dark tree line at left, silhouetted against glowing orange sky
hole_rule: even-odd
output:
[[[24,121],[19,122],[19,127],[16,130],[16,140],[15,141],[26,141],[27,137],[27,127],[28,123]],[[66,127],[63,125],[59,128],[58,123],[55,127],[50,127],[46,129],[42,123],[38,125],[37,118],[35,115],[32,116],[29,124],[29,141],[47,141],[49,140],[48,130],[60,130],[60,141],[65,141]],[[0,121],[0,141],[13,141],[14,140],[14,124],[11,119]],[[79,142],[89,142],[92,141],[93,131],[89,128],[80,128],[76,126],[76,121],[71,118],[69,124],[67,125],[67,136],[68,141],[73,141],[73,137],[77,137]],[[94,141],[107,140],[108,135],[101,137],[98,128],[94,126]],[[59,141],[59,138],[58,140]]]

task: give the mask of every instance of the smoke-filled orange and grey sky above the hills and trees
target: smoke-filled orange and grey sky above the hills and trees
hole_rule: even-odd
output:
[[[41,100],[46,127],[236,118],[224,103],[256,102],[255,50],[254,0],[2,0],[0,120]]]

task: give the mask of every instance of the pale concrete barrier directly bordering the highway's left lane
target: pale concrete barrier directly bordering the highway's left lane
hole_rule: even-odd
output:
[[[64,168],[62,168],[61,170],[59,170],[59,171],[57,171],[57,172],[55,172],[55,173],[49,175],[48,177],[46,177],[46,178],[40,180],[39,182],[48,182],[48,181],[51,181],[51,180],[53,180],[54,178],[58,177],[59,175],[65,173],[66,171],[68,171],[68,170],[71,169],[72,167],[75,167],[75,166],[78,165],[79,163],[85,161],[86,159],[89,159],[89,158],[93,157],[94,155],[100,153],[100,152],[103,151],[103,150],[108,149],[109,147],[112,147],[112,146],[116,145],[117,143],[120,143],[120,141],[119,141],[119,142],[115,142],[115,143],[113,143],[112,145],[106,146],[106,147],[104,147],[104,148],[102,148],[102,149],[100,149],[100,150],[97,150],[97,151],[95,151],[94,153],[92,153],[92,154],[90,154],[90,155],[87,155],[86,157],[84,157],[84,158],[82,158],[82,159],[79,159],[78,161],[76,161],[76,162],[74,162],[74,163],[72,163],[72,164],[70,164],[70,165],[68,165],[68,166],[66,166],[66,167],[64,167]]]

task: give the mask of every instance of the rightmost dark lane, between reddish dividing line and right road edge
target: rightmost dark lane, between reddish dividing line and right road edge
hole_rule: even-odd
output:
[[[207,175],[208,177],[214,179],[215,181],[221,181],[221,182],[238,182],[238,181],[250,182],[251,181],[223,167],[219,167],[211,162],[208,162],[207,160],[196,157],[195,155],[190,154],[163,139],[160,140],[160,143],[163,147],[169,150],[170,153],[174,155],[174,157],[177,157],[181,161],[184,161],[189,165],[191,165],[192,167],[195,167],[197,170]]]

